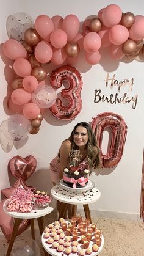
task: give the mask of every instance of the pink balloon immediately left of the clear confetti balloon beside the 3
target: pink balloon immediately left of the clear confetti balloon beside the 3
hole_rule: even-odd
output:
[[[13,103],[22,106],[31,100],[31,93],[26,92],[26,90],[24,89],[19,88],[19,89],[13,90],[11,99]]]

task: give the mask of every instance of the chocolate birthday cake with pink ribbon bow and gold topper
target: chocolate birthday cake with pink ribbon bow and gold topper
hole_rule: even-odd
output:
[[[71,188],[87,186],[90,170],[87,163],[81,163],[80,150],[71,150],[70,158],[70,166],[63,170],[63,183]]]

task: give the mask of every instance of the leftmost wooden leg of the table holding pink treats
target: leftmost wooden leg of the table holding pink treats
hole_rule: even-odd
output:
[[[9,247],[7,249],[6,256],[10,256],[10,252],[12,251],[13,243],[14,243],[16,235],[18,233],[18,227],[19,227],[21,221],[22,221],[22,219],[17,219],[17,218],[15,219],[15,224],[13,226],[12,235],[10,236],[10,242],[9,242]]]

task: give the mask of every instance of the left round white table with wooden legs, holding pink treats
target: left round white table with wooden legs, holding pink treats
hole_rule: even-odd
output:
[[[15,218],[15,224],[13,226],[13,231],[12,231],[12,235],[10,237],[9,247],[7,249],[7,254],[6,254],[6,256],[9,256],[10,252],[12,251],[13,243],[14,243],[16,235],[18,233],[18,227],[19,227],[21,221],[23,219],[30,219],[32,239],[35,239],[34,219],[37,218],[40,235],[42,235],[43,230],[44,230],[43,216],[51,213],[51,211],[53,211],[54,208],[51,207],[50,205],[48,205],[48,207],[46,207],[46,208],[35,208],[34,210],[31,211],[31,213],[17,213],[15,211],[7,211],[6,203],[7,203],[7,201],[5,201],[5,203],[4,203],[5,213],[7,213],[10,216],[12,216],[13,218]],[[44,250],[44,252],[45,252],[45,255],[48,255],[45,250]]]

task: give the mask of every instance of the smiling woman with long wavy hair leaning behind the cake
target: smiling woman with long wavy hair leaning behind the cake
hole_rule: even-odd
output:
[[[92,169],[96,169],[100,164],[99,147],[92,127],[85,122],[77,123],[71,136],[62,142],[58,155],[50,163],[50,174],[54,186],[60,178],[63,178],[63,170],[70,165],[71,149],[80,150],[80,160],[88,163],[90,174]],[[60,202],[57,202],[57,210],[60,210]]]

